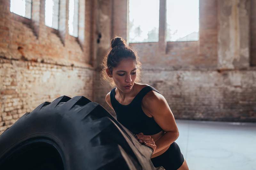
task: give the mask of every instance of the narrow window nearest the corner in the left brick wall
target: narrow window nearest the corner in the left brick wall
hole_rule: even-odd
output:
[[[68,33],[78,37],[79,0],[69,0]]]

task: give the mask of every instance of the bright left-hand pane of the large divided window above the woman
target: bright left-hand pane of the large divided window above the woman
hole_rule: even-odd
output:
[[[159,0],[129,1],[129,42],[157,42]]]

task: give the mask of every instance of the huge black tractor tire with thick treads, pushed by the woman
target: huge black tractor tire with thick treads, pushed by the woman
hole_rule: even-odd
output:
[[[100,104],[61,96],[2,133],[0,169],[164,169],[153,166],[152,152]]]

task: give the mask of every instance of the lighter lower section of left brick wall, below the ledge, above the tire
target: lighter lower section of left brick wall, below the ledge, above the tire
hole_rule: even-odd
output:
[[[0,59],[0,132],[24,113],[57,97],[83,95],[92,100],[93,70],[56,64]]]

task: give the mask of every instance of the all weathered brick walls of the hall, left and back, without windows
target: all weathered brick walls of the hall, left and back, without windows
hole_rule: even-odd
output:
[[[67,2],[54,30],[44,25],[44,0],[33,0],[31,19],[0,0],[0,134],[62,95],[83,95],[114,115],[105,102],[113,87],[100,81],[100,61],[115,35],[129,44],[129,3],[80,0],[75,38]],[[256,0],[200,1],[199,41],[166,42],[164,9],[160,0],[159,42],[129,44],[138,51],[142,83],[164,95],[177,119],[255,122]]]

